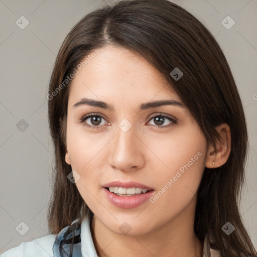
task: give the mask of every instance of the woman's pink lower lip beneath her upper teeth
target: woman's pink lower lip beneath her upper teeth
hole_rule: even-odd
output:
[[[119,196],[110,192],[108,189],[103,188],[107,199],[116,207],[122,209],[136,208],[142,203],[146,202],[152,195],[154,190],[148,191],[134,196]]]

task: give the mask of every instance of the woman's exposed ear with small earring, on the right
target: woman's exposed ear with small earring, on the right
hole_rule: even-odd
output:
[[[216,127],[216,130],[221,136],[222,142],[219,140],[215,142],[217,148],[216,154],[214,146],[211,144],[208,146],[205,166],[210,169],[218,168],[225,164],[231,151],[231,134],[229,125],[227,123],[222,123]]]

